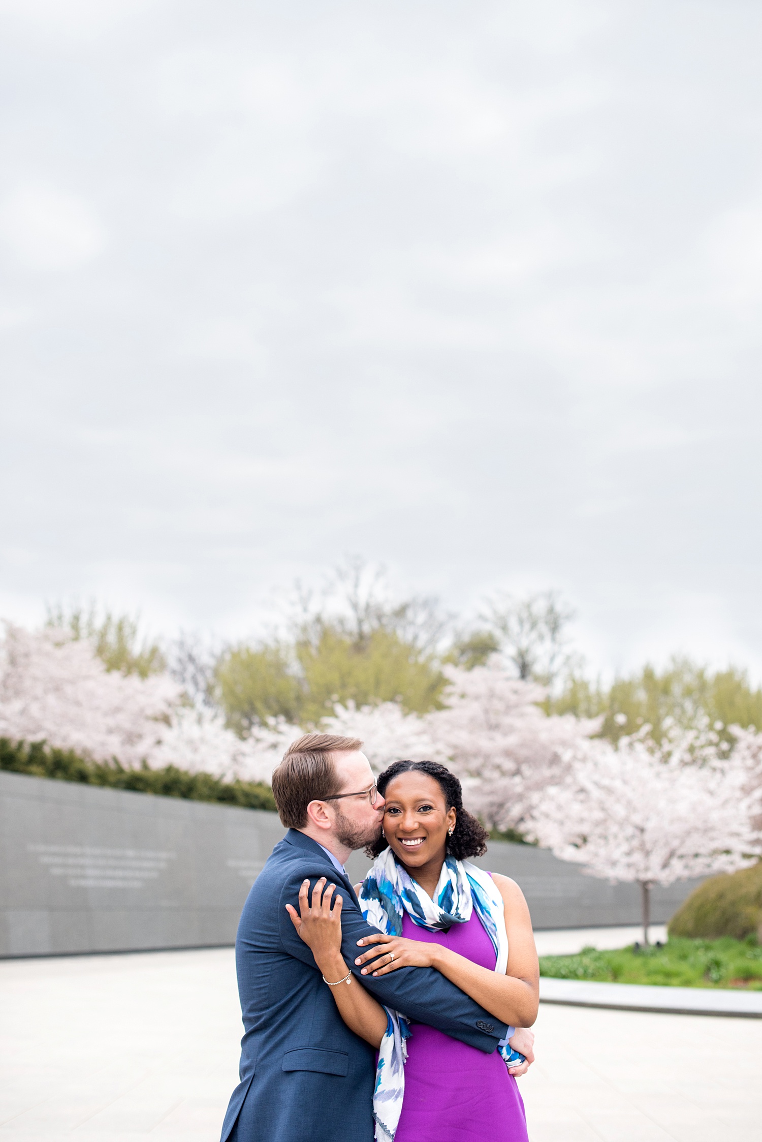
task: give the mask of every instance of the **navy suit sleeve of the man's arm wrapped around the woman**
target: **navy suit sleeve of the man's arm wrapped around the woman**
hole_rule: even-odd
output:
[[[306,860],[289,877],[278,901],[278,927],[284,949],[294,958],[309,964],[310,967],[315,967],[313,952],[299,938],[285,906],[293,904],[299,911],[299,890],[302,882],[309,879],[309,891],[311,892],[315,882],[321,876],[325,876],[325,869],[318,867],[317,862],[313,863]],[[394,1007],[416,1023],[428,1023],[430,1027],[436,1027],[445,1035],[468,1043],[469,1046],[478,1047],[486,1054],[495,1051],[508,1030],[508,1024],[491,1015],[464,991],[446,980],[436,968],[399,967],[396,972],[390,972],[389,975],[382,975],[378,979],[359,974],[360,970],[355,964],[355,958],[360,950],[357,947],[357,941],[364,935],[373,935],[378,928],[372,927],[363,918],[349,882],[343,880],[338,875],[337,888],[339,890],[337,895],[343,898],[341,955],[362,986],[379,1003],[387,1007]]]

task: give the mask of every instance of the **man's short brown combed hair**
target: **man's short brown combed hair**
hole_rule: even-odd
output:
[[[335,733],[306,733],[291,742],[273,774],[273,796],[285,826],[303,829],[310,801],[339,793],[341,781],[333,755],[352,753],[362,745],[359,738]]]

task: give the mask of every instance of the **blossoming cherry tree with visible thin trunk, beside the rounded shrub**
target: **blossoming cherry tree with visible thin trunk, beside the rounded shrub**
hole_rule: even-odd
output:
[[[675,743],[676,746],[676,743]],[[650,891],[691,876],[732,872],[762,854],[748,793],[733,759],[687,761],[646,733],[577,748],[566,777],[536,797],[528,831],[592,876],[637,883],[648,943]]]

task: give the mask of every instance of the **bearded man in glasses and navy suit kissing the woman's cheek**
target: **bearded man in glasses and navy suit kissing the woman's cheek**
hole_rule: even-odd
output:
[[[383,812],[360,746],[351,738],[306,734],[273,774],[289,831],[258,876],[238,925],[241,1081],[220,1142],[373,1142],[375,1052],[342,1021],[286,910],[299,908],[305,880],[310,891],[321,878],[334,882],[342,896],[342,956],[359,975],[357,940],[375,928],[363,919],[343,863],[378,837]],[[433,968],[366,975],[362,986],[415,1022],[486,1053],[506,1032]],[[517,1046],[526,1053],[526,1043]]]

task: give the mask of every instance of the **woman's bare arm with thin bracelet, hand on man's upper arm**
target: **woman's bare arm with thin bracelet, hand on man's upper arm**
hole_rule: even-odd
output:
[[[308,899],[309,880],[305,880],[299,890],[299,912],[291,904],[286,904],[286,910],[297,932],[311,949],[315,963],[323,976],[331,983],[343,980],[349,974],[349,968],[341,955],[341,906],[342,898],[337,896],[337,902],[331,908],[331,898],[335,884],[330,884],[325,892],[325,877],[322,877],[313,888],[311,907]],[[322,898],[322,899],[321,899]],[[370,1043],[372,1047],[379,1047],[384,1031],[387,1030],[387,1013],[376,1003],[373,996],[368,995],[362,983],[349,974],[349,986],[339,983],[331,988],[331,992],[339,1008],[339,1014],[347,1027],[359,1035],[362,1039]]]

